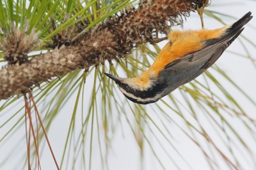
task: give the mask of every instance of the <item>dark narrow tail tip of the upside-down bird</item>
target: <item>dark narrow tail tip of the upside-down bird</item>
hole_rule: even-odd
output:
[[[225,37],[230,35],[236,35],[241,29],[243,29],[243,26],[247,24],[252,19],[252,12],[246,13],[241,19],[237,20],[234,24],[232,24],[227,29],[227,34],[225,34]]]

